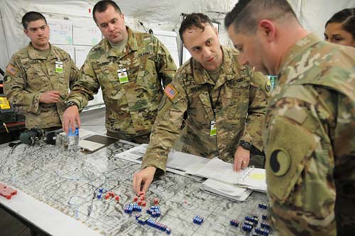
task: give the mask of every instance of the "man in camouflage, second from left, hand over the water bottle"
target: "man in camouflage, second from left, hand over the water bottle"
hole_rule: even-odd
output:
[[[126,27],[114,1],[99,1],[93,16],[105,38],[87,55],[81,79],[67,99],[63,128],[80,125],[78,108],[82,110],[101,86],[107,135],[148,143],[163,97],[162,82],[167,85],[175,77],[173,58],[155,36]]]

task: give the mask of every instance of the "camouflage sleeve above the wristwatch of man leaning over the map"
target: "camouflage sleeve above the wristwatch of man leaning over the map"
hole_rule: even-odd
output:
[[[241,140],[250,142],[258,150],[263,150],[263,121],[266,113],[266,104],[271,90],[268,78],[261,72],[251,73],[249,96],[249,111],[246,119],[246,128]]]

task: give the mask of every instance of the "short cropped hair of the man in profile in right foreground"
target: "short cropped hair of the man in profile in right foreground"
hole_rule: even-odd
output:
[[[253,34],[262,19],[282,21],[284,17],[297,17],[286,0],[239,0],[234,9],[226,14],[224,25],[233,24],[236,33]]]

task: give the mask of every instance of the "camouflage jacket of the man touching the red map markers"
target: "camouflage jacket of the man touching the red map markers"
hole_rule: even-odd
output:
[[[178,138],[184,113],[187,133],[182,152],[234,162],[239,140],[263,150],[261,129],[267,101],[268,79],[238,63],[238,52],[222,47],[223,63],[215,83],[192,58],[180,67],[170,85],[173,99],[165,96],[152,129],[142,168],[165,170],[168,152]],[[166,89],[165,89],[166,91]],[[212,98],[212,102],[211,99]],[[247,116],[248,115],[248,116]],[[215,120],[217,135],[210,135]]]

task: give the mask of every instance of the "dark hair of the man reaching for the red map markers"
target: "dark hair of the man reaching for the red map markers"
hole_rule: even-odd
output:
[[[192,27],[197,27],[204,30],[204,26],[202,24],[209,24],[209,26],[213,27],[213,23],[211,19],[202,14],[202,13],[191,13],[191,14],[185,14],[185,19],[182,21],[180,29],[179,29],[179,35],[182,43],[184,43],[184,39],[182,38],[182,34],[185,32],[187,29],[191,29]]]

